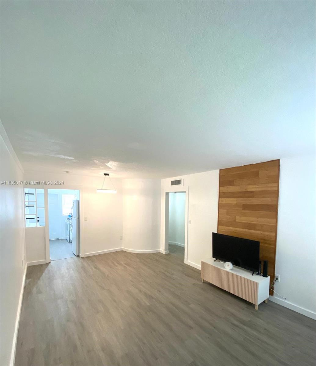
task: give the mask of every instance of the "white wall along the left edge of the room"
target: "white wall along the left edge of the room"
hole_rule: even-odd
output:
[[[21,164],[0,122],[0,181],[23,180]],[[0,184],[0,365],[13,364],[16,318],[24,283],[23,186]]]

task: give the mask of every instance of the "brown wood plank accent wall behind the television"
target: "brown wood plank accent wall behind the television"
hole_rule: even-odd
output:
[[[260,241],[275,275],[280,160],[220,169],[217,232]],[[262,262],[263,263],[263,262]],[[271,292],[271,291],[270,291]]]

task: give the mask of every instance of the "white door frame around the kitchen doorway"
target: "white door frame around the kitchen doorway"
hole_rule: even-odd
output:
[[[48,207],[48,190],[56,189],[56,190],[76,190],[79,191],[80,203],[79,203],[79,257],[84,257],[84,201],[83,201],[83,186],[74,186],[74,185],[63,185],[63,187],[56,187],[52,185],[49,188],[44,188],[44,203],[45,203],[45,252],[46,252],[46,263],[51,262],[50,253],[49,253],[49,207]]]

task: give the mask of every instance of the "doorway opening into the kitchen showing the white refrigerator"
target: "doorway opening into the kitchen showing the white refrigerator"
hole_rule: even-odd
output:
[[[79,190],[48,189],[51,261],[79,255],[79,201]]]

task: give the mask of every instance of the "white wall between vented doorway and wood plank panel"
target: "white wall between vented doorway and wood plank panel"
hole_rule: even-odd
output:
[[[183,179],[183,185],[189,187],[188,193],[188,262],[195,267],[201,266],[203,258],[212,256],[212,232],[217,231],[218,179],[219,171],[196,173],[162,179],[161,201],[164,204],[165,190],[172,190],[170,181]],[[169,195],[170,197],[170,195]],[[161,218],[163,222],[164,217]],[[163,230],[163,225],[162,230]],[[161,232],[161,237],[163,237]],[[161,248],[163,249],[163,248]]]

